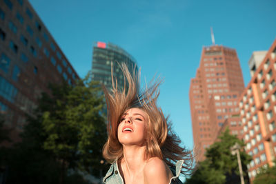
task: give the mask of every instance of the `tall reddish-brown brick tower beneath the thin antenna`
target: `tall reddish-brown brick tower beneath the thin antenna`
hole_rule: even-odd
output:
[[[204,159],[205,148],[212,144],[224,125],[240,134],[237,99],[244,91],[244,79],[237,52],[222,45],[204,47],[197,74],[190,83],[190,112],[197,160]]]

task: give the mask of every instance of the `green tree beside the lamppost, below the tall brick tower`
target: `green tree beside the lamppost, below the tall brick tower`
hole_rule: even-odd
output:
[[[230,152],[230,148],[235,143],[244,145],[236,136],[230,135],[227,129],[219,136],[219,141],[206,149],[206,159],[198,163],[197,170],[190,178],[187,178],[186,183],[240,183],[237,156]],[[243,150],[240,150],[240,156],[244,176],[248,183],[246,165],[250,161],[250,156]]]

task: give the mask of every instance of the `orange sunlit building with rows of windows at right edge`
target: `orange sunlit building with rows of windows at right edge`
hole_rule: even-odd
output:
[[[255,68],[252,79],[239,97],[240,118],[244,130],[242,137],[246,144],[246,152],[253,158],[247,166],[250,181],[253,181],[261,167],[272,166],[275,159],[275,81],[276,40],[259,63],[259,67]]]

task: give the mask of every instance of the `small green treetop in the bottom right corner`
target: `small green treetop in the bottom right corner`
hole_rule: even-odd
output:
[[[276,163],[275,163],[276,165]],[[262,168],[255,177],[253,184],[276,184],[276,166]]]

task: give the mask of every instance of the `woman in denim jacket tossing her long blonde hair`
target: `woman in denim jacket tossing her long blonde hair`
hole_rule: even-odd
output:
[[[157,107],[160,81],[139,92],[140,72],[132,77],[125,64],[121,69],[128,82],[125,88],[119,90],[116,79],[112,78],[111,92],[104,90],[108,141],[103,146],[103,157],[112,165],[103,182],[181,183],[179,174],[191,170],[193,156],[179,146],[181,141]]]

